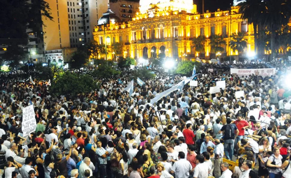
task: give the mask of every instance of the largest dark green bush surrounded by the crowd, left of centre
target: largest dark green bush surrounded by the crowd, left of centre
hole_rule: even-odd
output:
[[[76,73],[65,72],[55,77],[50,87],[50,93],[55,96],[87,93],[97,87],[93,78],[88,75],[77,75]]]

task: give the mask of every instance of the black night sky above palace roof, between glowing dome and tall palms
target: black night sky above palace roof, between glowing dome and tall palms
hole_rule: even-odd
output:
[[[193,0],[194,4],[197,5],[197,11],[202,13],[202,0]],[[233,4],[233,0],[204,0],[204,12],[209,10],[210,12],[220,10],[228,10]]]

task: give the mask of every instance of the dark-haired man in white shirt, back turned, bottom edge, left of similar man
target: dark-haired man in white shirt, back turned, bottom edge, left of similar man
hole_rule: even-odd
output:
[[[176,161],[173,166],[171,173],[175,173],[176,178],[185,178],[190,176],[192,165],[185,159],[185,153],[180,151],[178,154],[179,161]],[[203,158],[204,160],[204,158]],[[200,177],[199,177],[200,178]],[[204,177],[203,177],[204,178]]]

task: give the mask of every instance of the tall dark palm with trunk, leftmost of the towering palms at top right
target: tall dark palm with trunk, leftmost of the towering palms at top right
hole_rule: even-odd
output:
[[[247,23],[253,24],[255,52],[258,46],[258,26],[262,26],[262,18],[265,13],[264,1],[262,0],[246,0],[241,2],[238,13],[241,13],[241,19],[247,20]]]

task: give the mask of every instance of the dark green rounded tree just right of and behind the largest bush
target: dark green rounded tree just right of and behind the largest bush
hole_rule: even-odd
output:
[[[102,64],[99,64],[98,68],[96,68],[92,72],[92,76],[93,77],[96,77],[96,78],[110,78],[112,76],[120,75],[121,72],[119,70],[116,70],[116,68],[114,67],[113,62],[108,62],[108,64],[105,63],[104,60],[99,60],[99,62],[101,62]]]

